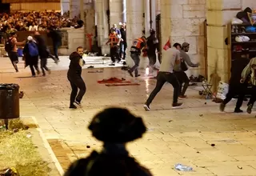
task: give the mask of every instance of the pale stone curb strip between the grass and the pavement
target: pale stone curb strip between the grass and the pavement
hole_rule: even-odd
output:
[[[49,163],[50,173],[49,175],[61,176],[64,174],[63,167],[58,158],[56,158],[54,151],[52,150],[49,142],[46,140],[45,135],[38,126],[38,122],[34,117],[23,116],[22,122],[29,126],[28,132],[31,134],[32,142],[34,146],[38,147],[38,152],[42,156],[42,159]],[[62,160],[60,160],[62,161]]]

